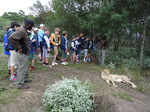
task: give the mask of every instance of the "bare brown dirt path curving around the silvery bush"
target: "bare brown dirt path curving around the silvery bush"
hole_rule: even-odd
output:
[[[117,84],[118,88],[109,87],[101,78],[100,70],[94,64],[68,65],[52,68],[40,68],[30,73],[33,80],[29,90],[19,93],[16,102],[0,104],[0,112],[44,112],[42,97],[46,86],[53,84],[63,77],[81,81],[89,80],[90,89],[95,93],[98,104],[95,112],[150,112],[150,97],[132,89],[129,85]],[[114,97],[115,92],[129,94],[132,101]]]

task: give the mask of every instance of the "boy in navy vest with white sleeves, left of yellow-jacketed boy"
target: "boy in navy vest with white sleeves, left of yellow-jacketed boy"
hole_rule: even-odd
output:
[[[43,48],[43,65],[45,66],[49,66],[48,64],[49,53],[50,53],[50,42],[48,36],[49,33],[50,30],[48,28],[44,28],[44,34],[42,38],[42,48]]]

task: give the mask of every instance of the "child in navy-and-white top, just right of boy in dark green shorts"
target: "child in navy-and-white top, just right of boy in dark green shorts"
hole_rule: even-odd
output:
[[[76,35],[74,35],[74,36],[72,37],[71,47],[70,47],[70,51],[71,51],[71,53],[72,53],[72,55],[71,55],[71,62],[72,62],[72,63],[75,63],[75,61],[76,61],[76,50],[77,50],[77,48],[76,48],[76,43],[75,43],[76,38],[77,38]]]

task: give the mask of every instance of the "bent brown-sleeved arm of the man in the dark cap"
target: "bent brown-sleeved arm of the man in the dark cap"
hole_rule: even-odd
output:
[[[24,32],[21,32],[20,30],[17,30],[12,35],[9,36],[9,42],[15,47],[16,50],[21,51],[21,45],[19,43],[19,40],[22,39],[24,36]]]

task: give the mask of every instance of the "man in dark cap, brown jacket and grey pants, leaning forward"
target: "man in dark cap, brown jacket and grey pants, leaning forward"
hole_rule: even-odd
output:
[[[30,31],[34,26],[34,22],[31,19],[25,19],[25,23],[20,27],[19,30],[14,32],[10,37],[9,41],[15,47],[17,51],[18,59],[18,71],[17,71],[17,89],[28,89],[29,86],[26,86],[24,83],[31,82],[28,79],[28,60],[30,54],[30,43],[28,30]]]

